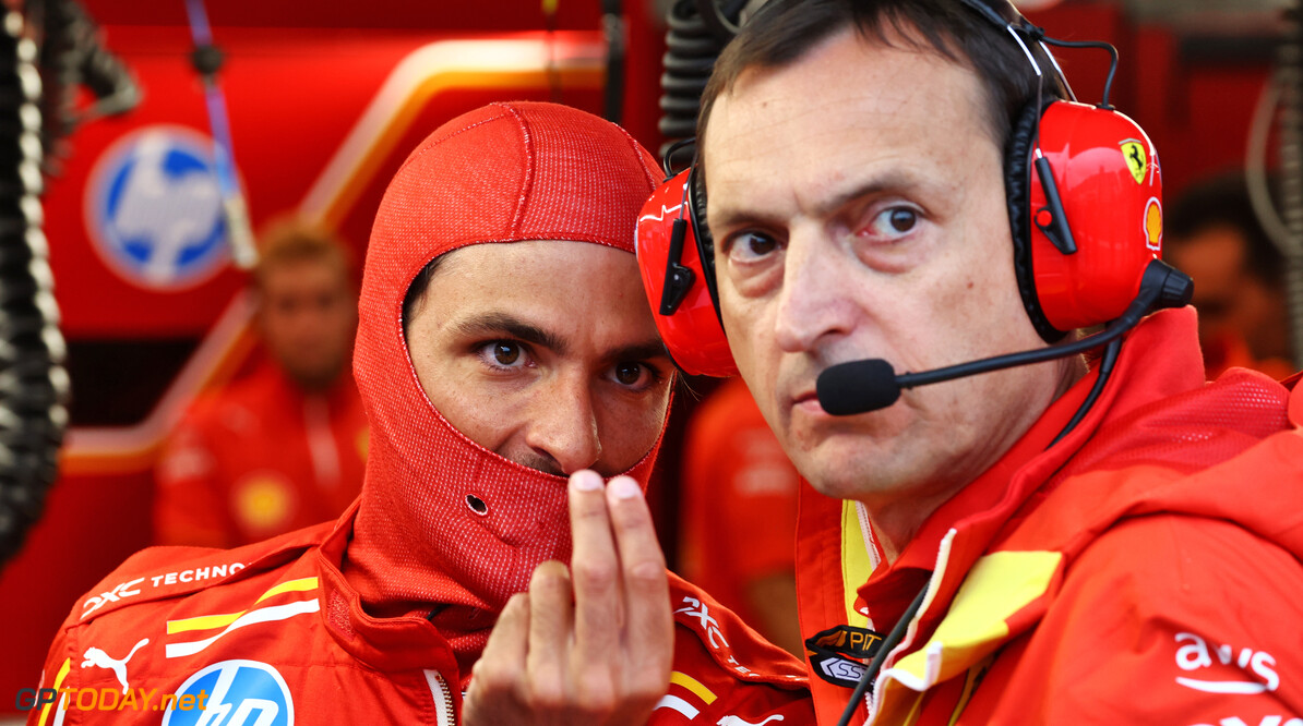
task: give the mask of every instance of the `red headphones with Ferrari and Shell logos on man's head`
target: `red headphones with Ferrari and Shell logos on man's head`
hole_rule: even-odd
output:
[[[1010,33],[1041,74],[1024,42],[1044,51],[1066,79],[1044,34],[1006,5],[1001,17],[980,0],[960,0]],[[1001,3],[1005,5],[1003,3]],[[1014,265],[1023,306],[1046,342],[1068,330],[1108,323],[1140,291],[1140,278],[1162,252],[1162,172],[1153,143],[1131,118],[1104,103],[1033,101],[1019,114],[1005,148],[1005,191]],[[1071,91],[1068,91],[1071,92]],[[689,375],[737,372],[719,319],[714,245],[693,169],[671,177],[642,208],[637,258],[657,328]]]

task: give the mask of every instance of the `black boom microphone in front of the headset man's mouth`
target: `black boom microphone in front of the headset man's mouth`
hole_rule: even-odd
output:
[[[1079,341],[1055,343],[1040,350],[1010,353],[994,358],[982,358],[933,371],[896,375],[890,363],[880,358],[851,360],[825,370],[814,384],[818,403],[834,416],[853,416],[886,409],[900,398],[900,390],[928,385],[990,371],[1001,371],[1015,366],[1031,366],[1085,353],[1114,341],[1131,328],[1151,310],[1182,307],[1190,302],[1195,286],[1179,269],[1152,260],[1140,278],[1140,291],[1122,316],[1102,332],[1087,336]]]

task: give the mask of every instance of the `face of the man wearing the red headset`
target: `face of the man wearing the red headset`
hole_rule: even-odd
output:
[[[748,70],[714,107],[704,159],[724,329],[770,427],[826,494],[934,506],[1066,380],[1061,363],[1014,368],[848,418],[814,394],[847,360],[923,371],[1044,345],[1018,294],[992,137],[972,72],[850,30]]]

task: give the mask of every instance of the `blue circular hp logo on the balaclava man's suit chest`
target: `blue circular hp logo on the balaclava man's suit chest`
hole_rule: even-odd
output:
[[[186,678],[176,695],[194,696],[194,705],[168,709],[163,726],[294,726],[289,687],[276,669],[263,662],[212,664]]]

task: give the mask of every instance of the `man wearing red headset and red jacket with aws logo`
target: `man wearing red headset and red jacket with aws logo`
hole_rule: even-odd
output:
[[[685,363],[717,350],[693,315],[717,290],[813,485],[821,723],[1303,725],[1303,393],[1204,385],[1194,311],[1140,321],[1188,299],[1154,260],[1153,147],[1111,108],[1046,108],[1023,23],[985,0],[764,5],[702,100],[683,207],[710,238],[650,229],[681,178],[644,209],[662,334],[726,370]]]

